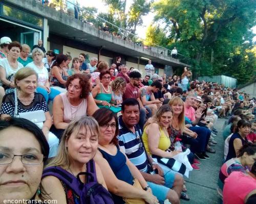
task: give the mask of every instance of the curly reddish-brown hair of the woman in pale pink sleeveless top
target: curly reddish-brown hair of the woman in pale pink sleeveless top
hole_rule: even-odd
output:
[[[79,79],[79,84],[82,88],[80,98],[87,98],[88,95],[90,94],[91,75],[86,74],[86,73],[75,73],[75,74],[73,74],[67,80],[67,83],[66,83],[67,90],[69,90],[70,83],[75,79]]]

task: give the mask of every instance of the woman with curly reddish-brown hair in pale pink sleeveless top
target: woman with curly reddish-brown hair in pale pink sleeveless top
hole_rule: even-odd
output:
[[[98,109],[90,93],[90,74],[76,73],[68,78],[66,85],[68,91],[57,95],[53,101],[52,131],[57,137],[61,137],[71,120],[84,115],[91,116]]]

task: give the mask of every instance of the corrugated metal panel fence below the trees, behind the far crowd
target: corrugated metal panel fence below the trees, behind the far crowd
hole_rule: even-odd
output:
[[[212,77],[201,76],[198,77],[199,81],[214,82],[218,84],[224,84],[226,87],[237,87],[237,80],[225,75],[213,75]]]

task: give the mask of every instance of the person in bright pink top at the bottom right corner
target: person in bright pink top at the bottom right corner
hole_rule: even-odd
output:
[[[223,189],[223,204],[243,204],[249,199],[255,199],[255,194],[256,161],[248,174],[234,171],[227,177],[227,179],[225,179]]]

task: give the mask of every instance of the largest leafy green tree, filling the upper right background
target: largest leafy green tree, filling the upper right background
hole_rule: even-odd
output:
[[[186,50],[194,59],[191,64],[196,74],[229,69],[231,64],[225,62],[239,45],[251,40],[256,17],[254,0],[159,0],[153,8],[156,21],[166,23],[178,52],[182,47],[182,53]],[[241,52],[244,62],[245,49]]]

